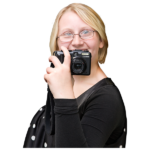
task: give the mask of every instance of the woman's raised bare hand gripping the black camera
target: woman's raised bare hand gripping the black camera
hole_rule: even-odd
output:
[[[45,67],[43,80],[49,85],[54,98],[75,99],[73,82],[70,70],[71,56],[66,47],[61,47],[64,53],[64,62],[61,64],[56,56],[48,56],[48,63],[53,63],[55,68]]]

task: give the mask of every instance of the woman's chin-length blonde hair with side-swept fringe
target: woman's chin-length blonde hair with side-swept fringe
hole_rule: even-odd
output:
[[[58,45],[56,40],[58,36],[58,23],[61,16],[66,11],[74,11],[86,24],[88,24],[90,27],[97,31],[100,39],[104,42],[103,48],[99,48],[98,51],[98,65],[105,65],[109,48],[109,40],[106,33],[105,22],[93,7],[85,3],[72,2],[59,10],[54,19],[54,23],[52,25],[52,29],[49,35],[48,46],[50,55],[53,55],[54,51],[58,51]]]

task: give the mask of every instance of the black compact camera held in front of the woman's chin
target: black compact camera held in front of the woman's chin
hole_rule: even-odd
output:
[[[88,50],[69,50],[71,55],[71,75],[90,75],[91,73],[91,53]],[[61,63],[64,62],[63,51],[54,51],[55,55]],[[50,63],[50,67],[55,68],[53,63]]]

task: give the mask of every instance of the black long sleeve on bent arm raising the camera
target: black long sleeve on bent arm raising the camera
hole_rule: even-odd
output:
[[[95,94],[80,120],[76,99],[54,99],[56,149],[103,149],[121,118],[120,99]]]

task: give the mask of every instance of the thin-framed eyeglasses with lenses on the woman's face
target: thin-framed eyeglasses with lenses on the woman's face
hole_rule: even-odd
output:
[[[90,39],[90,38],[93,37],[94,32],[97,32],[97,31],[83,30],[83,31],[80,32],[80,34],[72,34],[70,31],[67,31],[67,32],[63,33],[62,35],[60,35],[59,37],[57,37],[57,38],[60,38],[60,40],[62,42],[72,41],[73,38],[74,38],[74,35],[79,35],[81,39]]]

